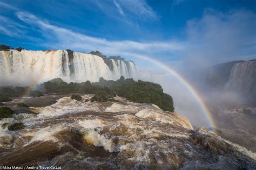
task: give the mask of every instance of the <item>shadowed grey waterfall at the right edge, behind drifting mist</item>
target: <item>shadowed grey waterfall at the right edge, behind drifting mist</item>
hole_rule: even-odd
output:
[[[256,60],[236,63],[225,89],[256,100]]]

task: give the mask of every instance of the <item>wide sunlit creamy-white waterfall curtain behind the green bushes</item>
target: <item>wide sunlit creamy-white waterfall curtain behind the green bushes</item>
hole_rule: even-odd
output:
[[[0,51],[0,85],[30,85],[56,77],[67,82],[95,82],[99,77],[117,80],[122,75],[139,78],[139,70],[132,61],[108,60],[112,68],[100,56],[71,50]]]

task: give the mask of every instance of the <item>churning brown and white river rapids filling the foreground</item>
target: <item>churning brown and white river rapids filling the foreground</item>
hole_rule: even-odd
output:
[[[115,97],[117,102],[91,102],[92,96],[84,95],[82,101],[62,96],[52,105],[30,107],[31,114],[20,111],[14,118],[2,119],[1,125],[23,122],[25,127],[1,129],[0,166],[256,168],[255,153],[205,129],[193,130],[178,114],[122,97]],[[36,100],[42,104],[46,97],[54,96]],[[16,98],[5,105],[15,109],[15,103],[30,101]]]

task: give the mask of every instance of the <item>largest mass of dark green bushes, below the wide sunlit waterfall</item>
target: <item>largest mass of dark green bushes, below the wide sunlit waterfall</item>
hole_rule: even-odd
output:
[[[174,111],[172,97],[163,92],[159,84],[134,81],[133,79],[125,79],[123,76],[119,80],[104,80],[100,77],[99,82],[91,83],[86,81],[83,83],[66,83],[61,82],[45,82],[40,89],[44,89],[44,93],[82,93],[96,94],[91,101],[115,101],[111,96],[122,96],[127,100],[138,103],[153,103],[165,111]]]

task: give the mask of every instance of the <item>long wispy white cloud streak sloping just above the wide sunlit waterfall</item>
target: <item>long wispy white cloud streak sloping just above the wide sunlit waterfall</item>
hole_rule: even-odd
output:
[[[71,48],[77,51],[99,50],[105,54],[157,54],[180,51],[181,44],[177,42],[136,42],[130,40],[109,41],[103,38],[90,37],[82,33],[73,32],[60,26],[51,25],[28,12],[17,12],[23,22],[38,26],[40,32],[49,38],[49,48]],[[54,39],[52,39],[54,37]]]

